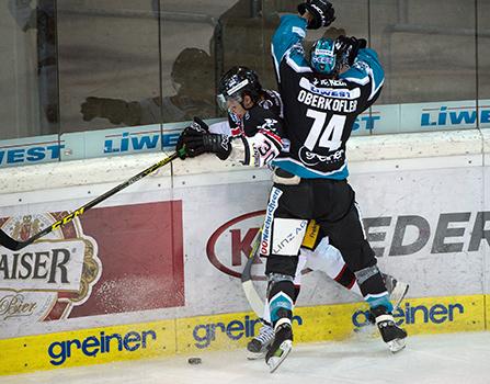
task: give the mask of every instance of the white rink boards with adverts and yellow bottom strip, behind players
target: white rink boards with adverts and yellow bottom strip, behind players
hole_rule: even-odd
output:
[[[350,182],[409,334],[490,326],[490,129],[353,137]],[[167,154],[2,170],[0,227],[26,238]],[[39,190],[43,185],[43,190]],[[259,327],[240,273],[267,170],[174,161],[18,252],[0,248],[0,374],[239,348]],[[264,264],[252,268],[263,297]],[[295,340],[369,336],[361,298],[303,275]]]

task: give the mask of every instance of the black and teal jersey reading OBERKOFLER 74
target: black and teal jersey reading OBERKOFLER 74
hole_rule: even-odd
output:
[[[345,179],[345,144],[358,114],[377,99],[385,75],[377,54],[360,49],[354,65],[337,79],[316,74],[301,41],[306,20],[285,15],[272,39],[272,54],[284,104],[284,131],[290,142],[273,165],[301,178]]]

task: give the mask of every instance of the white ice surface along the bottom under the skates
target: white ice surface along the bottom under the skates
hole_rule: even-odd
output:
[[[204,352],[198,355],[200,365],[190,365],[189,357],[3,376],[0,383],[490,383],[490,332],[413,336],[397,354],[380,339],[365,335],[341,342],[297,345],[274,374],[263,360],[248,361],[243,350]]]

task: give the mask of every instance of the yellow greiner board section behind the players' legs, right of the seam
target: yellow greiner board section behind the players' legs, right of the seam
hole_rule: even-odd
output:
[[[409,335],[478,331],[486,329],[485,296],[410,298],[394,313],[396,323]],[[343,340],[355,335],[378,339],[368,320],[365,303],[296,307],[293,317],[295,342]],[[252,313],[200,316],[176,320],[178,351],[243,348],[257,336],[262,323]]]

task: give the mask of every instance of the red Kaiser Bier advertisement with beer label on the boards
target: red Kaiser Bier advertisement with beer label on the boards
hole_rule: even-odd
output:
[[[25,240],[66,214],[3,217],[0,227]],[[94,208],[19,251],[0,247],[0,338],[184,303],[180,201]]]

